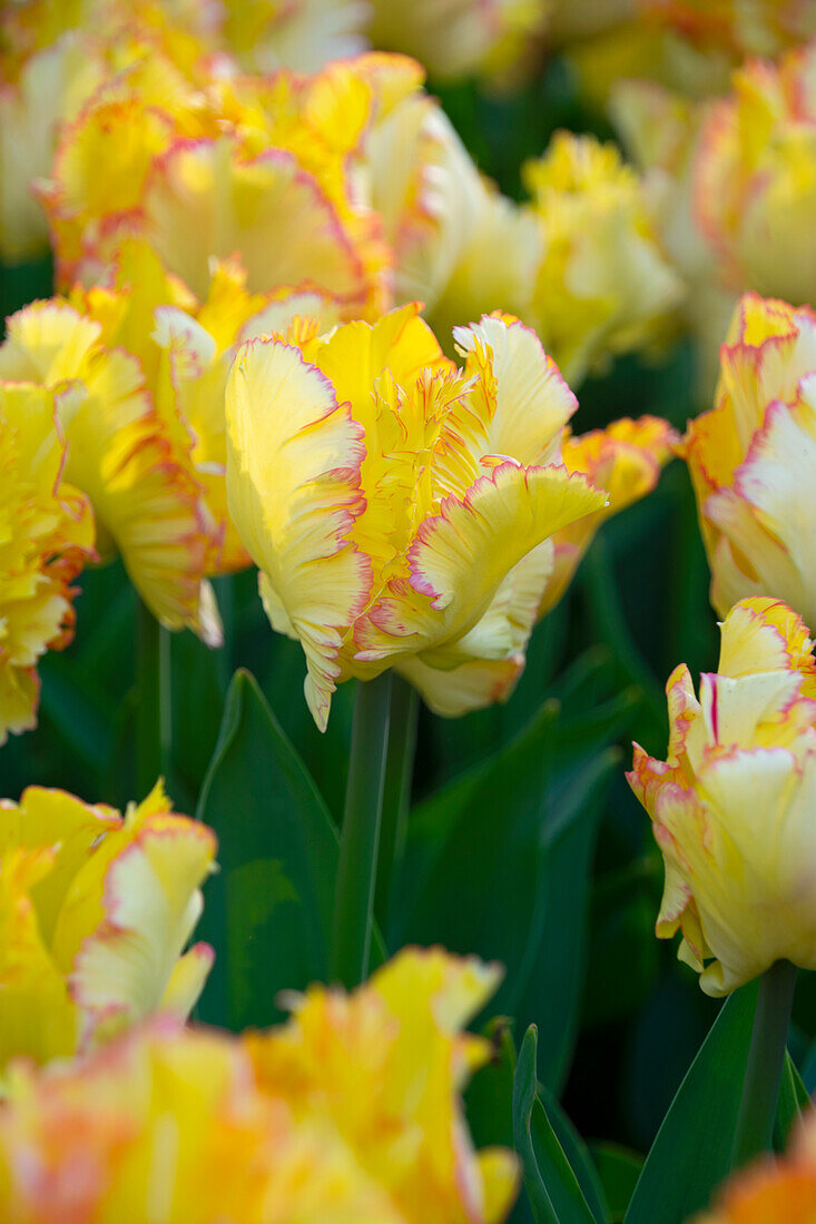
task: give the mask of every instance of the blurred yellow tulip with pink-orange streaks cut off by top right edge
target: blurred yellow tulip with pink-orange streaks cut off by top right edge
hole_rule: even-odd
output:
[[[700,223],[735,289],[816,296],[816,43],[747,64],[711,114],[695,170]]]

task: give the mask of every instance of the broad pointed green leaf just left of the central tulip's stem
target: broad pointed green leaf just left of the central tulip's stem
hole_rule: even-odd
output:
[[[325,980],[337,830],[255,679],[235,673],[197,816],[219,841],[202,938],[216,962],[198,1009],[232,1029],[281,1018],[276,995]]]

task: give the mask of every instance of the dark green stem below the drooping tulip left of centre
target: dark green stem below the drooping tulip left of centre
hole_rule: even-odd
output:
[[[153,613],[136,608],[136,788],[140,799],[170,764],[170,634]]]

